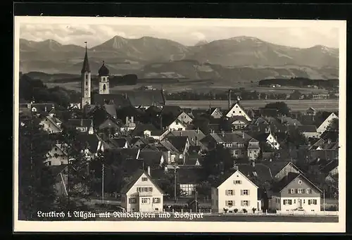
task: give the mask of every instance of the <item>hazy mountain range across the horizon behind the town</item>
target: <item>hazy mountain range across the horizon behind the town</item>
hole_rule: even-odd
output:
[[[260,80],[269,77],[337,78],[339,49],[313,46],[299,49],[265,42],[255,37],[233,37],[184,46],[169,39],[115,36],[88,49],[96,74],[105,61],[111,74],[135,73],[139,77]],[[80,74],[84,47],[52,39],[20,39],[20,70]]]

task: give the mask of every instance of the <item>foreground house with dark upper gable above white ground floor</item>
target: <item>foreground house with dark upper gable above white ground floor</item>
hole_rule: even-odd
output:
[[[279,182],[272,185],[269,208],[281,213],[301,210],[304,213],[320,212],[322,191],[301,173],[289,172]]]

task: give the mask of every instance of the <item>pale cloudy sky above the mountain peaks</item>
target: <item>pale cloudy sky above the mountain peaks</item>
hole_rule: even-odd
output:
[[[84,25],[21,23],[20,38],[32,41],[54,39],[61,44],[93,47],[118,35],[125,38],[158,37],[187,46],[199,41],[247,36],[285,46],[308,48],[315,45],[339,47],[339,29],[332,25],[305,27],[214,27],[207,25]]]

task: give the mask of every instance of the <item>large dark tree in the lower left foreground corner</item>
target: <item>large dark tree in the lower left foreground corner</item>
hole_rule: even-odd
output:
[[[23,122],[18,141],[18,210],[20,220],[35,220],[37,210],[52,210],[56,198],[56,176],[44,163],[54,142],[39,126],[39,120]]]

